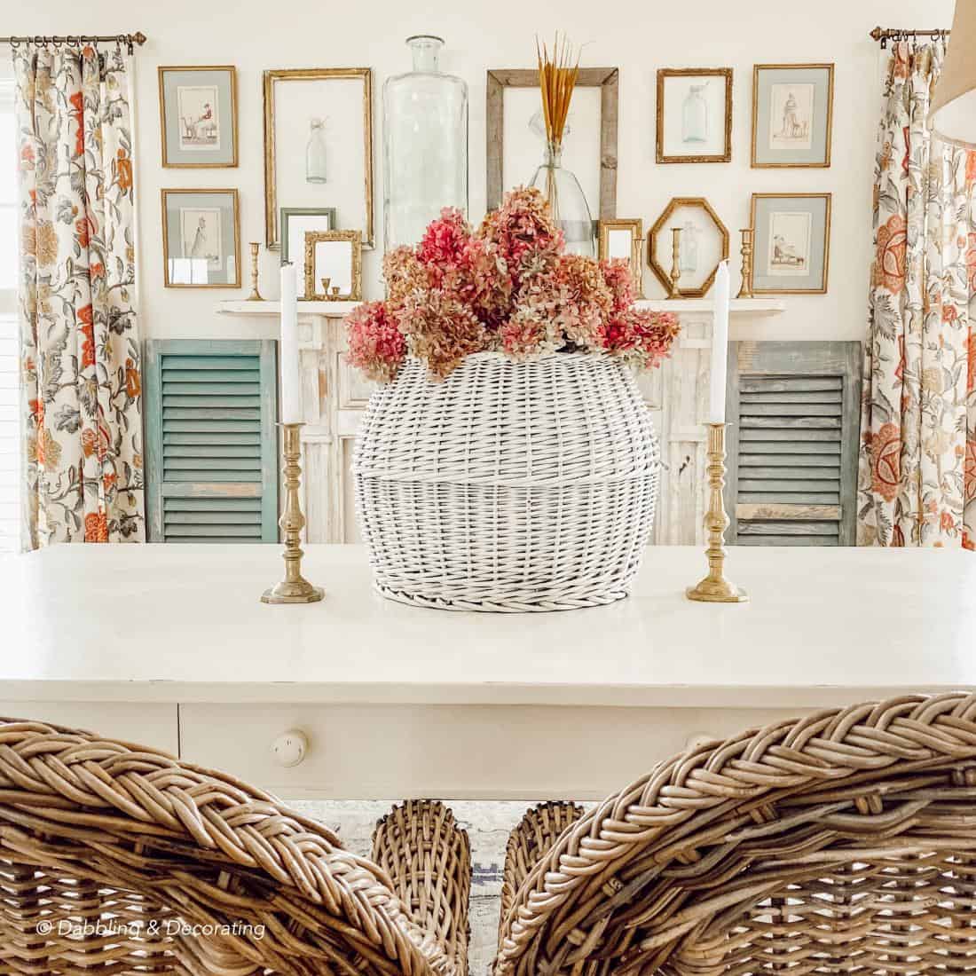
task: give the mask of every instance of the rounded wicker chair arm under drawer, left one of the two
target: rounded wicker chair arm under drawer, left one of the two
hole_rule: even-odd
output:
[[[454,813],[437,800],[394,806],[373,833],[373,860],[415,920],[454,959],[459,976],[467,976],[471,851]]]

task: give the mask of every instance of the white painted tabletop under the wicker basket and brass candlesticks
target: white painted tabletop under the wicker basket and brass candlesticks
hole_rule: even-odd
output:
[[[745,605],[692,603],[691,547],[630,598],[544,614],[425,610],[363,549],[308,546],[321,604],[266,606],[277,546],[61,546],[0,560],[0,699],[793,707],[976,687],[976,558],[744,548]]]

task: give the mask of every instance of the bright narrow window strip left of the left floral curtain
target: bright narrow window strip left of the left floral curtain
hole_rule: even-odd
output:
[[[14,82],[0,74],[0,557],[20,549],[17,248]]]

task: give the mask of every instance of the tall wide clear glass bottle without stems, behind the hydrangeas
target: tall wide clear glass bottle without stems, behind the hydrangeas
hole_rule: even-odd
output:
[[[407,45],[414,69],[383,86],[387,251],[416,244],[443,207],[468,215],[468,85],[440,71],[441,38]]]

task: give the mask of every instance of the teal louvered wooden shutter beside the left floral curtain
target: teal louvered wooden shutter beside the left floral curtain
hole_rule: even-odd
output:
[[[150,542],[278,538],[275,343],[145,344]]]

